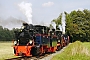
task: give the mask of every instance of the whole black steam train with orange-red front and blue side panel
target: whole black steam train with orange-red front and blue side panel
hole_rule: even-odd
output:
[[[23,23],[20,31],[15,31],[14,54],[35,56],[53,53],[69,43],[69,37],[57,29],[47,26]]]

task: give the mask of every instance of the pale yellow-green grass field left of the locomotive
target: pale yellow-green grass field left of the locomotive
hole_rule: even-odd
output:
[[[0,60],[9,58],[15,58],[13,53],[12,42],[1,42],[0,41]]]

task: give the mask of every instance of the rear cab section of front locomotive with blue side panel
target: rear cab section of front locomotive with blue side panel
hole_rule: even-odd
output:
[[[35,25],[35,46],[36,48],[33,48],[33,55],[38,55],[44,53],[44,49],[46,45],[49,43],[49,37],[48,37],[48,30],[49,28],[46,26],[41,25]],[[35,53],[36,52],[36,53]]]

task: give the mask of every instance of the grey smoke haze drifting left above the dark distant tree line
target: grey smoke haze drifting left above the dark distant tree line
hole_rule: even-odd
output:
[[[7,19],[0,18],[0,26],[3,26],[4,28],[12,29],[12,28],[20,28],[22,23],[25,23],[24,20],[17,19],[14,17],[9,17]]]

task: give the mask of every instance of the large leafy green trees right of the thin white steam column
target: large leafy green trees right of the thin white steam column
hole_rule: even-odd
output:
[[[72,11],[66,13],[66,32],[71,35],[73,41],[89,41],[90,39],[90,11]]]

